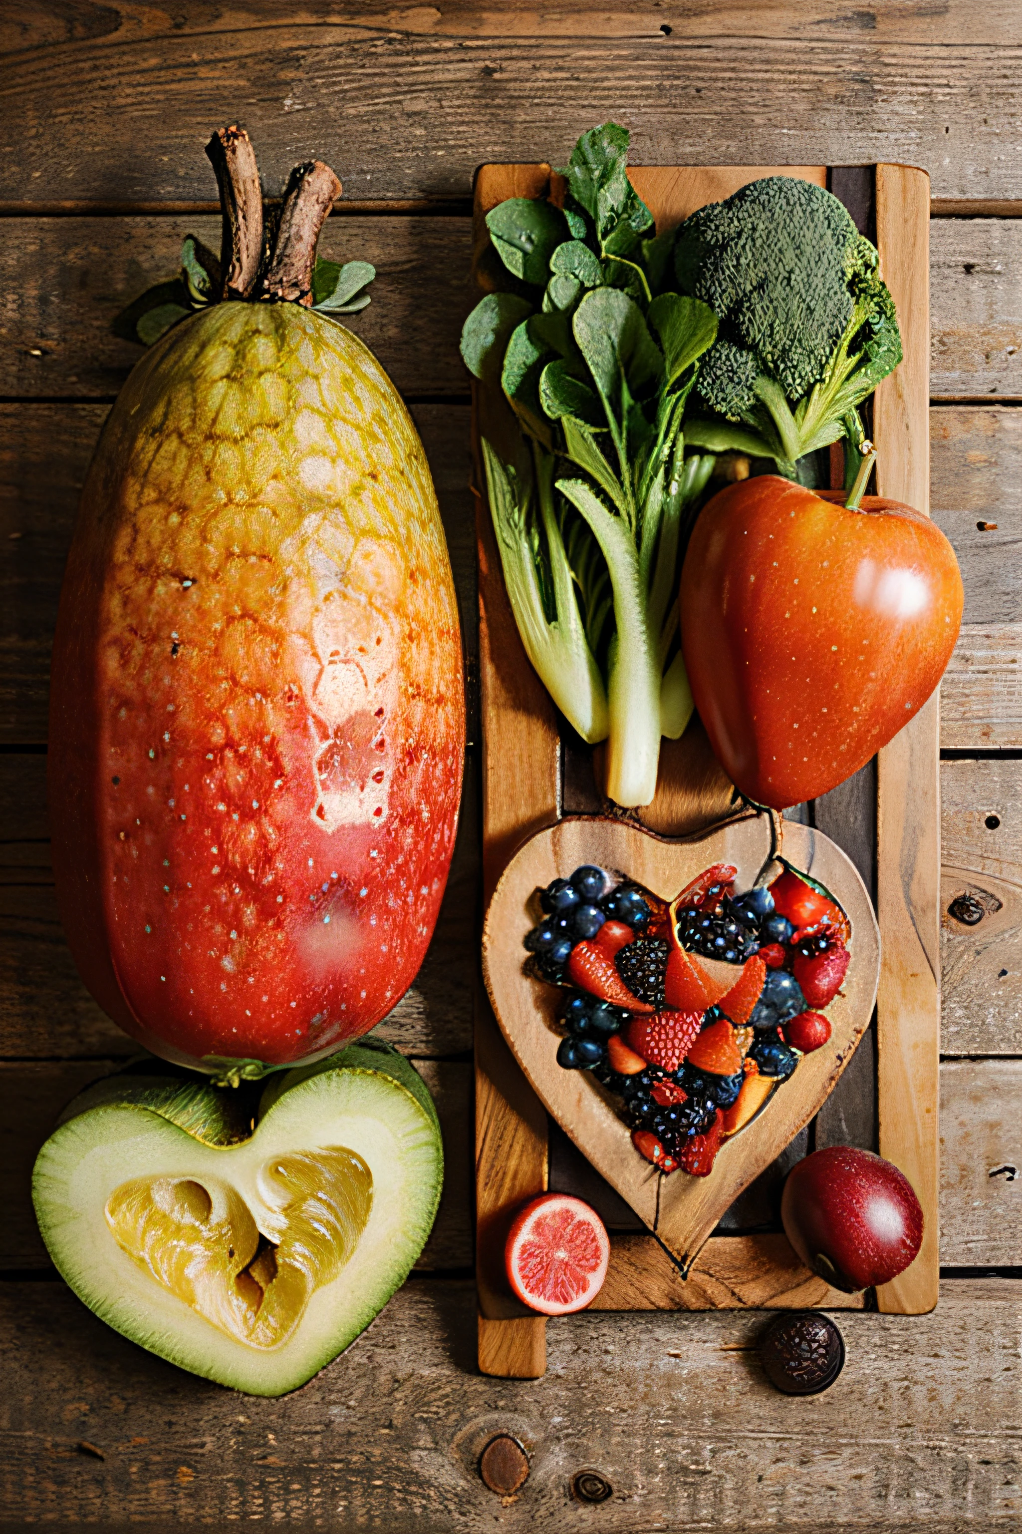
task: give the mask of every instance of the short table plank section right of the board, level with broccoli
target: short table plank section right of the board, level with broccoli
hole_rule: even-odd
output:
[[[930,281],[933,394],[1022,399],[1022,221],[938,219]]]

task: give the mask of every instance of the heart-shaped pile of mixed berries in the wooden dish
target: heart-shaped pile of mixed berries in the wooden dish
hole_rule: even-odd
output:
[[[584,865],[538,891],[527,969],[567,991],[558,1065],[621,1098],[636,1149],[662,1172],[706,1177],[803,1054],[830,1037],[817,1011],[849,965],[837,900],[785,865],[735,894],[714,864],[670,902]],[[712,973],[702,957],[740,966]]]

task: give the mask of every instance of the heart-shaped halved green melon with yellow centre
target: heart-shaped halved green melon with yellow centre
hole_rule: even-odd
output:
[[[156,1068],[158,1069],[158,1068]],[[103,1321],[253,1396],[305,1384],[405,1282],[443,1147],[412,1066],[351,1045],[233,1089],[121,1075],[77,1098],[35,1161],[49,1253]]]

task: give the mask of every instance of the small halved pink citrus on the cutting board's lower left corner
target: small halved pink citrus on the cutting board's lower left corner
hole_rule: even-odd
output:
[[[506,1247],[518,1298],[547,1316],[584,1310],[607,1276],[610,1239],[596,1213],[570,1193],[542,1193],[515,1220]]]

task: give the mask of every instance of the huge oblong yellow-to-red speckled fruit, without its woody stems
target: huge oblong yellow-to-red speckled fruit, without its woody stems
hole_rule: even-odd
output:
[[[49,739],[70,948],[147,1048],[293,1063],[408,989],[461,644],[421,443],[349,331],[227,302],[138,364],[78,511]]]

